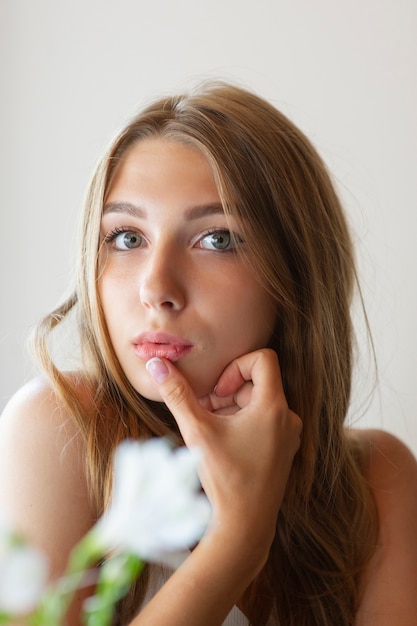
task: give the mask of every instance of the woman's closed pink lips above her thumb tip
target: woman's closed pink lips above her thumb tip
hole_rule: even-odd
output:
[[[193,348],[193,344],[169,333],[149,331],[142,333],[133,341],[135,352],[142,361],[149,361],[156,356],[170,361],[178,361]]]

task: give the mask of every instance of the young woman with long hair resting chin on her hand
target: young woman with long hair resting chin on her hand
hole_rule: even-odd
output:
[[[202,449],[213,521],[116,624],[415,625],[416,462],[344,425],[356,274],[306,137],[233,86],[156,102],[97,168],[78,258],[38,329],[46,377],[0,422],[0,505],[52,576],[109,503],[115,446],[169,435]],[[82,367],[62,372],[49,342],[74,320]]]

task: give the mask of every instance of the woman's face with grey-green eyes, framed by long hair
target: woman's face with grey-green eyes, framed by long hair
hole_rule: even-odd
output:
[[[195,148],[146,139],[125,153],[101,225],[99,294],[117,358],[133,387],[160,400],[145,369],[175,362],[198,396],[235,358],[265,347],[276,307],[237,254],[227,218]]]

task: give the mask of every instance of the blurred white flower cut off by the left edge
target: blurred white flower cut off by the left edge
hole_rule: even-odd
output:
[[[23,543],[0,515],[0,611],[21,615],[34,609],[47,578],[45,556]]]

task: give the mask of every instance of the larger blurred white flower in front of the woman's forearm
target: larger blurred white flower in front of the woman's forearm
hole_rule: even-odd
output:
[[[198,454],[163,439],[124,441],[116,451],[113,499],[95,527],[109,550],[169,561],[203,535],[211,515],[200,491]]]

